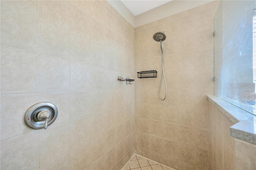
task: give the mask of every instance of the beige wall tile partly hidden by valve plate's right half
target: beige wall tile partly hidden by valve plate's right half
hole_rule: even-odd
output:
[[[58,119],[52,123],[57,125],[69,121],[69,92],[39,93],[39,101],[48,101],[58,108]]]

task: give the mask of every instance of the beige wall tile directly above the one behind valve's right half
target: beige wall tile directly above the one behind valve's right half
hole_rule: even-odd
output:
[[[40,92],[68,91],[70,87],[69,62],[60,59],[40,57],[39,78]]]

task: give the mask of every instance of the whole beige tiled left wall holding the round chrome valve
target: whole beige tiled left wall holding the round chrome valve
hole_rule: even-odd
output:
[[[1,147],[15,142],[14,154],[1,148],[1,166],[121,169],[136,148],[136,82],[117,80],[135,77],[134,28],[107,1],[1,1],[0,11]],[[150,95],[144,100],[150,104]],[[22,121],[38,101],[58,107],[46,130]]]

